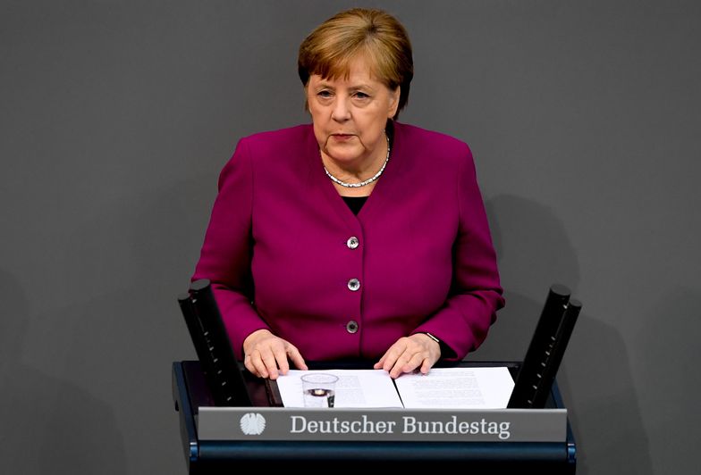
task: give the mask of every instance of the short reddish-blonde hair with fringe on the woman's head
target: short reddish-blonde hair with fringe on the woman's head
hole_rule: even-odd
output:
[[[302,84],[318,74],[324,79],[347,76],[359,55],[386,87],[401,87],[396,119],[409,100],[414,77],[411,43],[400,21],[382,10],[352,8],[320,24],[300,45],[297,67]]]

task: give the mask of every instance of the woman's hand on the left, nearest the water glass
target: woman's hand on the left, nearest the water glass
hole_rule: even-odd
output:
[[[288,358],[300,370],[307,370],[307,364],[297,346],[281,337],[275,337],[269,330],[258,329],[243,340],[243,364],[259,378],[277,379],[290,370]]]

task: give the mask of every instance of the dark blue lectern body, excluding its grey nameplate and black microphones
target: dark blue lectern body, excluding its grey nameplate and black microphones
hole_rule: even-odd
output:
[[[362,368],[357,363],[308,363],[313,370]],[[459,366],[507,366],[512,374],[518,362],[460,362]],[[275,405],[274,387],[243,371],[255,411]],[[272,383],[274,385],[274,383]],[[271,392],[272,391],[272,392]],[[563,409],[557,384],[546,408]],[[234,473],[244,468],[295,467],[329,471],[320,462],[341,463],[342,467],[429,468],[445,463],[464,464],[466,470],[519,470],[538,474],[573,474],[576,446],[570,421],[559,441],[336,441],[336,440],[200,440],[198,408],[214,406],[199,362],[173,362],[173,401],[179,413],[182,449],[188,473],[213,475]],[[281,409],[281,411],[285,411]],[[511,411],[511,410],[505,410]],[[518,410],[513,410],[518,411]],[[522,410],[521,410],[522,411]],[[310,465],[313,464],[313,465]]]

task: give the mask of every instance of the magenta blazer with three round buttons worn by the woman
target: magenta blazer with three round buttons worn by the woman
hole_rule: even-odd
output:
[[[358,216],[326,177],[310,124],[242,138],[195,279],[212,281],[240,359],[243,340],[269,329],[307,361],[376,360],[422,331],[460,360],[504,303],[469,147],[401,123]]]

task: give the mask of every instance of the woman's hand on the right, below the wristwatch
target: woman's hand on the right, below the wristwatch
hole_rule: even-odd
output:
[[[374,368],[389,371],[392,378],[414,371],[419,366],[420,371],[427,374],[440,357],[441,346],[425,333],[416,333],[410,337],[398,339],[384,352]]]

